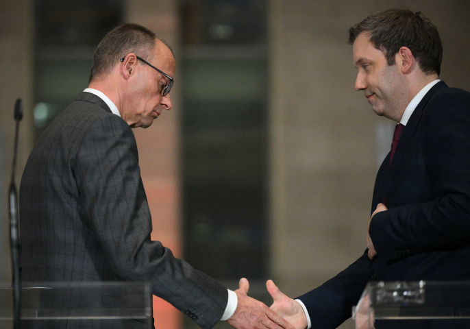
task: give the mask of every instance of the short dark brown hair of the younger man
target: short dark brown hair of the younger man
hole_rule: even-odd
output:
[[[384,53],[388,65],[395,64],[395,54],[401,47],[408,47],[421,71],[426,74],[441,74],[441,38],[436,25],[421,12],[404,8],[373,14],[349,28],[347,43],[352,45],[362,33],[370,34],[372,44]]]

